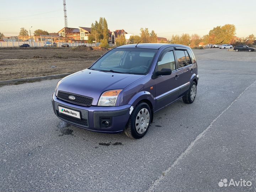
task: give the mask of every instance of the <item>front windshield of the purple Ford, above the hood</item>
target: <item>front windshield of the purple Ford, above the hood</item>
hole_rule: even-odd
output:
[[[151,66],[157,49],[117,48],[101,57],[89,69],[145,75]]]

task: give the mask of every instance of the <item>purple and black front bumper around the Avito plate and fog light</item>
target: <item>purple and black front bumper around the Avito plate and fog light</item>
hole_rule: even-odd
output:
[[[95,132],[119,133],[125,128],[130,117],[131,105],[101,107],[101,106],[80,106],[63,100],[60,100],[53,94],[52,106],[54,114],[63,121],[76,127],[92,130]],[[81,119],[68,116],[58,111],[58,106],[68,108],[70,110],[79,111]],[[109,127],[102,126],[102,121],[110,119]]]

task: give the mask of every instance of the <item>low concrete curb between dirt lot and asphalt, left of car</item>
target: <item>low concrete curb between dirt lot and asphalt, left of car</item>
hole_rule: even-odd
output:
[[[0,81],[0,85],[58,79],[58,78],[63,78],[65,76],[68,76],[70,74],[71,73],[63,73],[63,74],[57,74],[57,75],[47,75],[47,76],[39,76],[39,77],[32,77],[32,78],[11,79],[11,80]]]

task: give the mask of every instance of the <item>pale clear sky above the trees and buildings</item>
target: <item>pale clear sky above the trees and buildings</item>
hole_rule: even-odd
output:
[[[62,0],[0,0],[0,32],[17,36],[20,28],[31,34],[36,29],[49,33],[64,27]],[[105,17],[110,31],[124,29],[139,35],[140,28],[154,30],[158,37],[197,33],[203,36],[213,27],[236,26],[236,36],[256,36],[256,0],[66,0],[68,27],[90,27]],[[32,34],[33,35],[33,34]]]

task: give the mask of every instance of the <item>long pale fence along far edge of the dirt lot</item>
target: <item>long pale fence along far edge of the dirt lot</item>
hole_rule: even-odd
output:
[[[31,47],[44,47],[44,46],[52,46],[51,44],[45,44],[45,42],[30,42],[30,41],[0,41],[0,47],[18,47],[22,44],[29,44]],[[54,46],[61,47],[63,44],[68,44],[69,47],[77,47],[81,45],[85,45],[87,47],[94,47],[95,43],[65,43],[58,42],[54,43]],[[96,43],[96,46],[100,46],[100,43]],[[115,47],[115,44],[109,44],[110,47]]]

